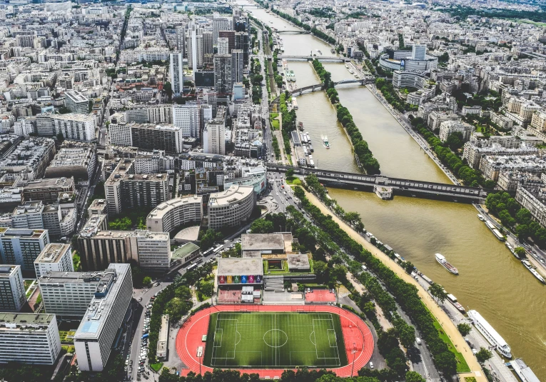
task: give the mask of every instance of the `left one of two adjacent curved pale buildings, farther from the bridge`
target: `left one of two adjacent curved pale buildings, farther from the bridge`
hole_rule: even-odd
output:
[[[159,204],[146,218],[148,230],[171,232],[188,223],[201,223],[203,196],[181,196]]]

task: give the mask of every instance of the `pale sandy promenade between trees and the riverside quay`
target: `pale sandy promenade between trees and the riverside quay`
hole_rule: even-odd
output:
[[[457,348],[458,351],[464,356],[465,361],[467,365],[469,366],[471,372],[470,373],[464,373],[459,374],[459,376],[472,376],[475,377],[477,381],[479,382],[485,382],[487,381],[487,378],[485,378],[480,364],[477,362],[475,356],[472,354],[472,350],[465,342],[464,338],[460,335],[459,331],[457,330],[457,327],[455,324],[450,320],[449,316],[438,306],[438,304],[433,300],[432,297],[425,291],[423,287],[420,286],[420,284],[415,281],[408,273],[405,273],[400,266],[398,266],[392,259],[390,259],[385,253],[380,251],[378,248],[373,246],[371,243],[366,241],[360,234],[353,230],[350,226],[348,226],[347,223],[343,222],[340,218],[335,216],[315,195],[312,193],[305,192],[305,196],[308,198],[310,203],[313,203],[314,206],[318,207],[322,213],[325,215],[332,216],[332,220],[335,221],[335,223],[338,223],[340,228],[343,229],[350,238],[352,238],[354,241],[359,243],[363,246],[367,251],[370,251],[370,253],[375,256],[375,258],[378,258],[385,266],[390,268],[391,271],[393,271],[396,276],[401,278],[406,283],[410,283],[413,286],[416,287],[418,291],[418,296],[420,297],[421,301],[425,303],[425,306],[428,308],[428,310],[433,314],[435,319],[440,323],[440,326],[442,327],[443,331],[445,331],[445,334],[450,338],[450,340],[453,342],[453,345],[455,348]]]

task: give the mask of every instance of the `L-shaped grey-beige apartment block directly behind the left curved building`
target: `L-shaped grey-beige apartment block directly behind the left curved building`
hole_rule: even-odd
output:
[[[128,208],[155,207],[168,200],[168,174],[135,174],[135,160],[120,161],[104,183],[109,214]]]

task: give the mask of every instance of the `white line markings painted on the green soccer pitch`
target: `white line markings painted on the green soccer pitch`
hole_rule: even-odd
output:
[[[231,318],[231,313],[218,313],[218,316],[216,316],[216,327],[214,329],[214,345],[213,345],[213,353],[212,353],[212,356],[211,356],[211,366],[228,366],[227,363],[228,363],[228,360],[235,360],[236,359],[236,355],[238,353],[259,353],[260,354],[260,357],[261,357],[261,363],[260,365],[253,365],[253,366],[265,366],[265,367],[294,367],[293,365],[293,362],[292,362],[292,353],[315,353],[315,357],[317,360],[322,360],[324,363],[323,364],[317,364],[317,365],[313,365],[311,367],[314,367],[314,366],[320,366],[320,367],[335,367],[335,366],[341,366],[341,360],[340,360],[340,353],[339,353],[339,348],[338,348],[338,337],[337,337],[337,334],[335,333],[335,325],[333,323],[333,316],[332,316],[332,313],[319,313],[319,317],[322,317],[322,316],[328,316],[328,318],[313,318],[313,323],[312,324],[290,324],[290,313],[281,313],[282,315],[284,314],[288,314],[288,326],[303,326],[303,327],[309,327],[309,326],[313,326],[313,331],[311,331],[311,333],[309,334],[309,341],[310,343],[313,344],[313,346],[315,346],[315,351],[290,351],[289,353],[289,358],[290,358],[290,365],[280,365],[278,364],[278,358],[280,360],[280,353],[278,353],[278,348],[284,346],[286,343],[288,343],[288,334],[285,333],[285,331],[277,328],[276,326],[276,323],[277,323],[277,314],[275,313],[270,313],[272,316],[273,316],[273,328],[269,329],[268,331],[266,331],[266,333],[263,334],[263,342],[271,347],[271,348],[274,348],[275,351],[271,353],[271,356],[272,358],[274,358],[274,364],[271,364],[271,365],[264,365],[263,364],[263,352],[262,351],[237,351],[236,348],[237,348],[237,345],[241,342],[241,333],[238,331],[238,318]],[[228,315],[228,317],[230,318],[222,318],[221,316],[226,316]],[[218,350],[222,347],[222,340],[223,340],[223,328],[218,328],[218,323],[220,321],[234,321],[233,324],[235,325],[235,341],[233,341],[233,351],[229,350],[229,351],[226,351],[225,352],[225,355],[226,357],[220,357],[220,356],[216,356],[216,354],[218,353]],[[317,348],[317,345],[316,345],[316,333],[315,333],[315,321],[328,321],[328,328],[325,329],[326,331],[326,336],[328,336],[328,346],[330,348],[333,348],[333,354],[334,356],[333,357],[326,357],[326,354],[325,354],[325,351],[319,351],[318,348]],[[247,325],[247,324],[242,324],[243,326]],[[268,343],[268,341],[266,341],[266,335],[268,333],[272,333],[271,334],[271,338],[269,338],[271,340],[271,342],[273,342],[273,344],[271,343]],[[284,334],[284,337],[285,337],[285,341],[284,343],[280,344],[280,338],[278,336],[274,336],[274,333],[282,333]],[[282,336],[281,334],[281,336]],[[217,341],[217,337],[220,337],[220,345],[216,345],[216,343],[218,343]],[[238,336],[238,337],[237,337]],[[315,339],[315,341],[313,341],[313,339],[311,338],[311,336],[313,336],[313,338]],[[237,341],[238,340],[238,341]],[[275,343],[275,341],[278,341],[277,343]],[[221,364],[221,360],[223,360],[223,364]],[[331,361],[331,363],[330,363]],[[230,365],[230,366],[233,366],[233,365]],[[238,366],[243,366],[243,365],[238,365]],[[249,365],[250,366],[250,365]]]

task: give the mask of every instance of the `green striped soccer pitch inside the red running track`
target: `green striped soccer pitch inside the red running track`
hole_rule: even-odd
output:
[[[333,313],[214,313],[203,364],[222,367],[339,367],[347,355]]]

